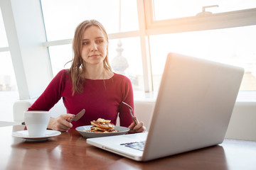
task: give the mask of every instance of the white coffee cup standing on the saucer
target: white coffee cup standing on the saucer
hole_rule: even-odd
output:
[[[30,137],[43,137],[46,135],[47,126],[50,121],[50,112],[25,111],[24,120]]]

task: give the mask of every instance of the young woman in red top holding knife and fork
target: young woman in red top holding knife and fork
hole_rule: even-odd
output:
[[[28,111],[48,111],[63,98],[67,113],[50,118],[49,129],[65,131],[103,118],[129,127],[129,133],[144,132],[143,122],[135,125],[128,103],[134,108],[131,81],[112,72],[108,61],[108,37],[105,28],[95,20],[83,21],[73,38],[74,57],[70,69],[60,71]],[[68,121],[85,108],[77,122]]]

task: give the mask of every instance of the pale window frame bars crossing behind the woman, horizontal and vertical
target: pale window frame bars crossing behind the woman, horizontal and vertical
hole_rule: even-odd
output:
[[[149,35],[256,25],[256,8],[224,13],[213,13],[211,16],[191,16],[154,21],[152,3],[153,0],[137,0],[139,30],[112,33],[108,35],[110,40],[117,38],[140,38],[144,75],[144,92],[153,91]],[[43,46],[49,47],[70,43],[72,43],[72,39],[55,40],[43,42]]]

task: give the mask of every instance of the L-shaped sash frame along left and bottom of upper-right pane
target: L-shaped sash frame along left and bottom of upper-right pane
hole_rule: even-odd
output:
[[[256,8],[154,21],[152,1],[144,0],[147,35],[256,25]]]

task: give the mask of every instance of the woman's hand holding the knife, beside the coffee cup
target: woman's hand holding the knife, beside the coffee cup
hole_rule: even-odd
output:
[[[75,115],[67,113],[60,115],[58,118],[50,118],[50,122],[48,124],[48,129],[58,130],[60,132],[65,132],[73,127],[69,120],[74,118]]]

